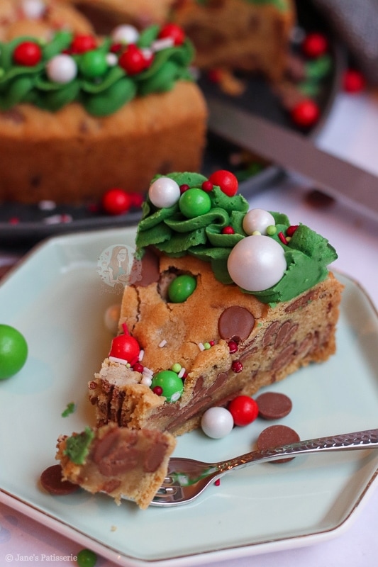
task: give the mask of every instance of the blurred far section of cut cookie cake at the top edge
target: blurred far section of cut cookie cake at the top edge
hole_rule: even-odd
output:
[[[97,26],[132,23],[144,28],[169,22],[185,30],[201,69],[258,71],[272,81],[287,64],[296,21],[292,0],[69,0]]]

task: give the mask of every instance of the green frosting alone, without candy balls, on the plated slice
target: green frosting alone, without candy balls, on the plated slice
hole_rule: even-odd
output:
[[[155,181],[156,176],[152,181]],[[195,173],[172,173],[167,175],[180,186],[201,188],[207,178]],[[243,218],[248,212],[248,201],[241,195],[227,196],[221,188],[214,186],[210,191],[211,210],[209,213],[188,219],[179,210],[179,203],[169,208],[157,208],[147,197],[143,203],[143,216],[138,225],[136,245],[138,256],[143,257],[145,247],[155,246],[170,257],[186,254],[210,262],[218,281],[232,284],[228,274],[227,261],[233,247],[247,236],[243,230]],[[270,236],[284,249],[287,270],[276,285],[263,291],[244,291],[262,301],[274,305],[289,301],[326,279],[327,266],[338,255],[328,240],[308,228],[299,225],[287,244],[279,238],[285,236],[290,222],[287,215],[271,212],[277,232]],[[232,227],[233,234],[223,234],[225,227]]]

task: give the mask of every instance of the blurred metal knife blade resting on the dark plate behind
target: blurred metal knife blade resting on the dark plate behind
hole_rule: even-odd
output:
[[[208,126],[213,133],[304,176],[317,189],[377,219],[378,176],[319,150],[304,135],[230,103],[216,99],[208,99],[207,103]]]

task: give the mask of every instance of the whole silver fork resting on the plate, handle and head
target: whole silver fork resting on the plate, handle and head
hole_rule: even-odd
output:
[[[272,449],[252,451],[219,463],[173,457],[169,460],[167,477],[157,490],[151,505],[178,506],[192,502],[207,486],[236,468],[266,461],[279,461],[299,454],[351,449],[378,449],[378,429],[307,439]]]

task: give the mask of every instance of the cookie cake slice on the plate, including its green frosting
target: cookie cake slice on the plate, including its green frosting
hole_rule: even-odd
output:
[[[89,383],[97,425],[183,434],[335,352],[335,249],[236,194],[229,172],[158,176],[138,225],[120,335]]]

